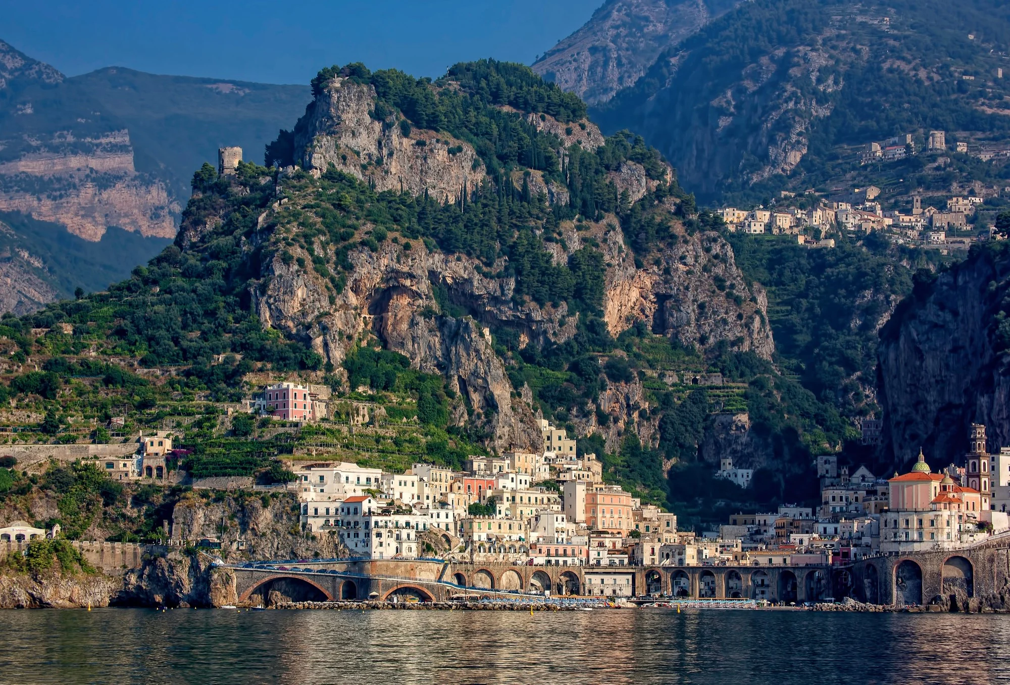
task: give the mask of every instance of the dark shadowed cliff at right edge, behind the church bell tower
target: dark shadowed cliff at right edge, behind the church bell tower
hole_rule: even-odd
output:
[[[971,423],[989,449],[1010,445],[1010,256],[987,247],[919,284],[881,331],[884,459],[900,467],[921,447],[934,468],[957,462]]]

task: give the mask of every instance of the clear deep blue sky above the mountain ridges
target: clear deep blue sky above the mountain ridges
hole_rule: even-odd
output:
[[[603,0],[0,0],[0,39],[64,72],[307,83],[361,61],[438,76],[493,57],[529,64]]]

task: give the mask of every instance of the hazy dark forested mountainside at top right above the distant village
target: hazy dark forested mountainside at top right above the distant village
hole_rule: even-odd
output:
[[[1008,36],[994,0],[755,0],[664,50],[594,117],[641,133],[706,200],[830,187],[871,141],[1010,135]]]

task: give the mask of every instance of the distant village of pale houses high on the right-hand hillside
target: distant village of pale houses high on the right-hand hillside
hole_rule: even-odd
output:
[[[1002,75],[1001,75],[1002,76]],[[946,133],[929,131],[926,152],[933,155],[931,167],[942,170],[950,164]],[[984,162],[1010,158],[1010,145],[969,145],[954,143],[960,155]],[[857,153],[860,166],[904,160],[918,154],[911,133],[882,142],[869,142]],[[903,179],[902,179],[903,181]],[[832,248],[834,239],[822,233],[835,226],[848,233],[876,231],[896,244],[920,247],[942,255],[969,250],[976,242],[998,238],[991,223],[983,217],[988,200],[1010,197],[1010,185],[986,185],[981,181],[953,182],[947,195],[912,194],[885,198],[881,188],[868,185],[849,189],[834,188],[829,193],[813,189],[801,195],[781,191],[773,206],[751,209],[722,207],[716,213],[733,231],[750,234],[796,235],[809,248]]]

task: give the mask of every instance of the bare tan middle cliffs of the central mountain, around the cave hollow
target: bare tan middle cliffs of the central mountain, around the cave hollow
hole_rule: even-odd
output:
[[[755,286],[753,301],[733,299],[733,293],[747,292],[746,285],[731,249],[718,234],[682,234],[663,251],[658,264],[638,269],[614,217],[578,227],[567,221],[561,232],[562,240],[548,243],[559,263],[590,241],[601,246],[607,265],[604,319],[612,335],[643,320],[684,346],[705,349],[726,340],[771,358],[775,347],[764,292]],[[289,249],[296,259],[286,263],[275,257],[264,267],[264,287],[252,292],[265,323],[303,337],[337,367],[355,340],[374,332],[416,368],[445,375],[449,387],[467,396],[477,424],[494,436],[494,448],[539,449],[530,408],[512,397],[514,389],[487,329],[515,330],[523,345],[562,342],[574,334],[577,322],[564,303],[558,308],[517,304],[512,278],[489,277],[470,258],[429,252],[417,243],[407,251],[389,241],[376,253],[354,251],[349,280],[333,295],[311,267],[299,266],[298,258],[308,265],[312,255],[297,246]],[[444,288],[449,300],[470,315],[453,318],[440,312],[435,287]]]

